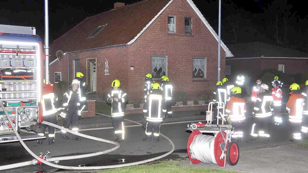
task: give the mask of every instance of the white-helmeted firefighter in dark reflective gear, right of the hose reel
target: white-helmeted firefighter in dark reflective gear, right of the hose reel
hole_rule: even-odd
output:
[[[271,125],[272,111],[270,108],[273,96],[269,92],[267,84],[261,84],[259,94],[253,108],[253,125],[249,140],[246,142],[255,142],[257,137],[262,138],[262,142],[267,144],[269,142],[269,127]]]

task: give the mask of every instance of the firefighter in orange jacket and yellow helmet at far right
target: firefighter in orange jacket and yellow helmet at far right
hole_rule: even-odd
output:
[[[289,89],[291,90],[291,95],[286,104],[286,109],[289,113],[289,122],[294,138],[290,141],[294,141],[302,138],[300,123],[302,122],[304,96],[300,92],[299,84],[293,83],[290,85]]]

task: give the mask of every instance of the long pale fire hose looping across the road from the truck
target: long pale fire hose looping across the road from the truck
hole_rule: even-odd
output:
[[[53,164],[53,163],[50,163],[50,162],[51,161],[60,161],[60,160],[80,159],[80,158],[86,158],[86,157],[102,155],[102,154],[106,154],[106,153],[112,152],[114,150],[117,150],[120,147],[120,145],[117,142],[113,142],[113,141],[110,141],[110,140],[105,140],[105,139],[101,139],[101,138],[97,138],[97,137],[93,137],[93,136],[89,136],[89,135],[84,135],[84,134],[81,134],[81,133],[78,133],[78,132],[74,132],[74,131],[69,130],[69,129],[65,129],[65,128],[59,126],[59,125],[55,125],[55,124],[52,124],[50,122],[43,121],[42,122],[43,124],[53,126],[53,127],[58,128],[60,130],[65,130],[65,131],[67,131],[67,132],[69,132],[71,134],[78,135],[78,136],[81,136],[81,137],[84,137],[84,138],[88,138],[88,139],[92,139],[92,140],[106,142],[106,143],[113,144],[113,145],[116,145],[116,146],[111,148],[111,149],[104,150],[104,151],[99,151],[99,152],[95,152],[95,153],[42,159],[38,155],[34,154],[28,148],[28,146],[24,143],[24,141],[21,139],[20,135],[18,134],[17,130],[15,129],[15,126],[14,126],[10,116],[8,115],[8,112],[6,111],[6,109],[5,109],[5,107],[4,107],[4,105],[2,103],[0,103],[0,107],[3,109],[4,113],[8,117],[8,121],[11,124],[12,129],[13,129],[16,137],[18,138],[19,142],[21,143],[21,145],[27,150],[27,152],[30,155],[32,155],[35,158],[34,160],[30,160],[30,161],[26,161],[26,162],[20,162],[20,163],[0,166],[0,170],[12,169],[12,168],[17,168],[17,167],[27,166],[27,165],[35,165],[35,164],[38,163],[38,161],[41,162],[41,163],[44,163],[45,165],[51,166],[51,167],[55,167],[55,168],[59,168],[59,169],[68,169],[68,170],[100,170],[100,169],[119,168],[119,167],[124,167],[124,166],[139,165],[139,164],[143,164],[143,163],[147,163],[147,162],[151,162],[151,161],[154,161],[154,160],[161,159],[163,157],[166,157],[167,155],[170,155],[174,151],[174,149],[175,149],[175,146],[174,146],[173,142],[167,136],[165,136],[163,134],[160,134],[162,137],[164,137],[166,140],[168,140],[170,142],[170,144],[172,145],[172,149],[169,152],[167,152],[167,153],[165,153],[163,155],[160,155],[160,156],[157,156],[157,157],[154,157],[154,158],[151,158],[151,159],[142,160],[142,161],[138,161],[138,162],[132,162],[132,163],[126,163],[126,164],[121,164],[121,165],[107,165],[107,166],[85,166],[85,167],[79,167],[79,166],[56,165],[56,164]],[[129,121],[132,121],[132,120],[129,120]],[[140,124],[140,123],[138,123],[136,121],[132,121],[132,122],[134,122],[134,123],[136,123],[138,125],[142,125],[142,124]]]

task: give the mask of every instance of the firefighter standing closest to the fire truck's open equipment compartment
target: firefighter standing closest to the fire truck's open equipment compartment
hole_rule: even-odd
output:
[[[57,112],[61,110],[58,101],[58,96],[54,93],[44,94],[42,99],[43,119],[44,121],[56,124],[57,123]],[[45,129],[48,126],[48,141],[49,145],[55,142],[55,127],[39,123],[38,127],[40,133],[38,135],[44,136]],[[37,141],[38,144],[43,144],[43,139]]]

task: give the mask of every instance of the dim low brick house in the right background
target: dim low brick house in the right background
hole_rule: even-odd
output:
[[[261,42],[229,45],[234,58],[226,58],[226,76],[239,73],[254,80],[262,70],[270,68],[292,75],[307,71],[308,53]]]

